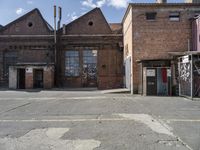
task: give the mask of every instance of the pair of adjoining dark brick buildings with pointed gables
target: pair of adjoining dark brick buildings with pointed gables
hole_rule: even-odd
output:
[[[0,85],[122,87],[122,41],[122,25],[108,24],[96,8],[59,29],[55,44],[52,27],[34,9],[0,29]]]

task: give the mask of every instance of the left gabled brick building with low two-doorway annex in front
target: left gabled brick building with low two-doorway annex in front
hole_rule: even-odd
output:
[[[1,86],[12,89],[52,88],[53,47],[53,29],[38,9],[1,28]]]

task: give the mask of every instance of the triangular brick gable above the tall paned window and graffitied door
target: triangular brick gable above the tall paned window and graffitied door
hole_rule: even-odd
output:
[[[66,34],[111,34],[103,13],[95,8],[66,26]]]

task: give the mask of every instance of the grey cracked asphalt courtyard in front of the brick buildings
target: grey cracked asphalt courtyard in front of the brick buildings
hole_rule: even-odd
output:
[[[0,150],[200,150],[200,101],[0,91]]]

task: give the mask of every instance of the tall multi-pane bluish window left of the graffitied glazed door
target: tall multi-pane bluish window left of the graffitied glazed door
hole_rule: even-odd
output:
[[[65,76],[77,77],[80,74],[79,66],[79,52],[66,51],[65,52]]]

